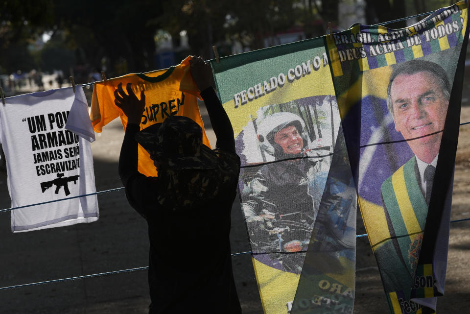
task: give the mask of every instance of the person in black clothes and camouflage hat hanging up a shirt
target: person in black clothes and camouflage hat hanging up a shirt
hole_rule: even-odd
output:
[[[201,127],[187,117],[171,116],[139,131],[144,91],[139,100],[130,83],[127,94],[119,85],[115,103],[128,117],[119,176],[129,203],[148,223],[149,314],[240,314],[229,241],[240,159],[230,120],[211,87],[210,65],[201,57],[190,62],[216,148],[202,144]],[[138,143],[158,177],[138,171]]]

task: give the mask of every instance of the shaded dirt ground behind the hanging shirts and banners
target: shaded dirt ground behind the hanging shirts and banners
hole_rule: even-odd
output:
[[[470,69],[467,69],[467,73]],[[470,121],[470,80],[464,83],[462,122]],[[89,90],[87,92],[90,92]],[[213,132],[202,111],[211,143]],[[105,126],[92,144],[96,190],[121,187],[118,153],[120,121]],[[451,219],[470,217],[470,124],[461,126]],[[10,215],[0,213],[0,288],[148,265],[146,224],[122,191],[98,195],[100,219],[90,224],[12,234]],[[0,209],[11,206],[6,173],[0,171]],[[232,210],[232,252],[249,250],[239,202]],[[365,229],[360,215],[357,234]],[[450,228],[446,295],[439,314],[469,313],[470,221]],[[208,254],[210,252],[208,251]],[[245,314],[262,314],[249,254],[233,257],[236,288]],[[146,314],[147,272],[139,270],[88,279],[0,290],[0,314]],[[210,300],[201,300],[210,307]],[[354,313],[388,313],[375,258],[367,238],[357,240]]]

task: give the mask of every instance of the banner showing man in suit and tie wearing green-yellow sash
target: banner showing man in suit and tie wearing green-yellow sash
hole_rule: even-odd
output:
[[[358,203],[394,314],[444,294],[468,3],[325,37]]]

